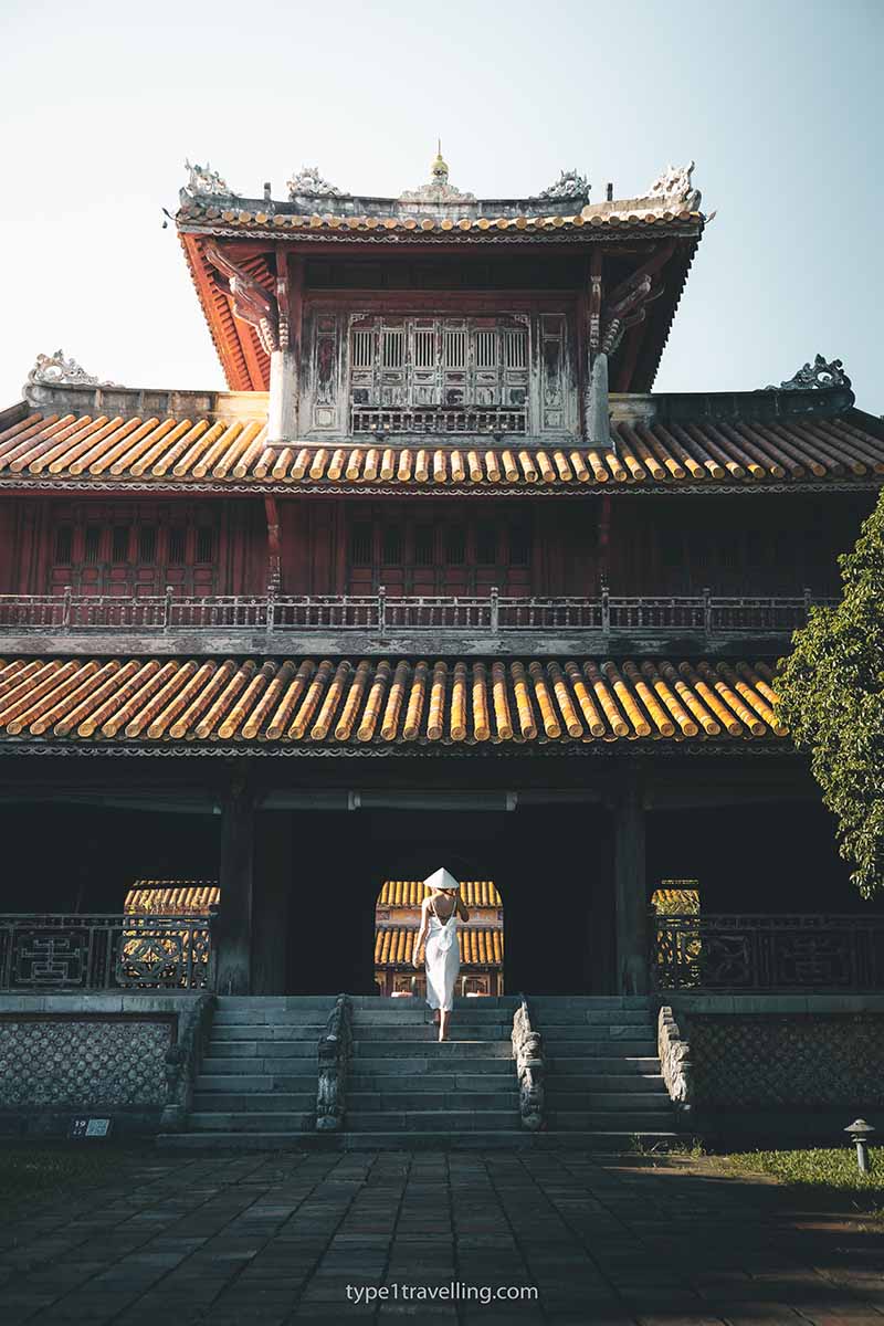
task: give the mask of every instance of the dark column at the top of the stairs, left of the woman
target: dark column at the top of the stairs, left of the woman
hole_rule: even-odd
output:
[[[219,994],[252,993],[254,796],[236,774],[221,810],[221,899],[215,928]]]

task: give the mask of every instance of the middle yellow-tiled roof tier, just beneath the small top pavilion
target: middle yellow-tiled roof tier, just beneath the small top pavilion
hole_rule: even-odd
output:
[[[0,414],[0,488],[126,492],[587,493],[877,487],[884,426],[824,389],[612,395],[610,448],[457,438],[266,442],[265,398],[34,389]],[[86,398],[86,399],[83,399]],[[107,398],[107,399],[105,399]],[[87,408],[85,408],[87,406]]]

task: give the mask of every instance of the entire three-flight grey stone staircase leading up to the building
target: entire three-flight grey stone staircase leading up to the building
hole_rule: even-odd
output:
[[[411,1150],[577,1146],[619,1151],[675,1139],[649,1001],[529,994],[546,1054],[541,1132],[521,1127],[514,996],[457,998],[443,1044],[421,1000],[353,994],[345,1127],[315,1131],[317,1044],[335,998],[220,996],[187,1130],[175,1148]]]

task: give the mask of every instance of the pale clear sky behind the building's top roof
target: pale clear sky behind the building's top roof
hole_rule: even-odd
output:
[[[184,156],[285,198],[318,166],[592,200],[694,158],[717,216],[657,390],[750,390],[816,351],[884,412],[884,0],[131,0],[0,5],[0,407],[58,346],[127,386],[221,389],[172,227]]]

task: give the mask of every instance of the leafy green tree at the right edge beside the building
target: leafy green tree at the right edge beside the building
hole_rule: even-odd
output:
[[[812,609],[793,636],[778,711],[810,752],[840,854],[868,898],[884,887],[884,492],[838,561],[842,599]]]

